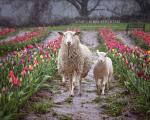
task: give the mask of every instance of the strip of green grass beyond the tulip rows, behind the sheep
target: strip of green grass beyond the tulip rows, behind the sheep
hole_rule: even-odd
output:
[[[145,23],[145,31],[150,31],[150,23]],[[79,28],[80,30],[98,30],[100,28],[111,28],[116,31],[125,31],[127,23],[73,23],[70,25],[49,26],[49,30],[66,30],[67,28]]]

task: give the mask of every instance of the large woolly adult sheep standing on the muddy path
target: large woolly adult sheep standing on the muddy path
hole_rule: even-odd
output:
[[[78,95],[81,95],[81,79],[86,77],[91,68],[91,51],[80,43],[80,32],[59,32],[62,43],[58,52],[57,68],[62,82],[70,81],[70,95],[74,96],[75,83]]]

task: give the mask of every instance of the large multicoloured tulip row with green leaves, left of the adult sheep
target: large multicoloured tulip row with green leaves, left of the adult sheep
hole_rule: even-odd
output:
[[[0,118],[12,117],[43,83],[56,73],[61,37],[47,46],[28,45],[0,62]]]

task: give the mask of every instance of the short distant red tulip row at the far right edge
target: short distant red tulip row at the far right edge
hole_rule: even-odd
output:
[[[150,49],[150,34],[144,31],[134,30],[130,34],[135,43],[143,49]]]

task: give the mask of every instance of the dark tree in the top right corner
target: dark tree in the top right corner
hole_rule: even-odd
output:
[[[150,0],[135,0],[141,8],[142,14],[150,13]]]

